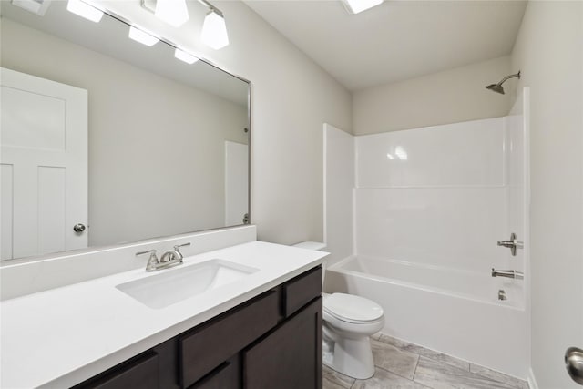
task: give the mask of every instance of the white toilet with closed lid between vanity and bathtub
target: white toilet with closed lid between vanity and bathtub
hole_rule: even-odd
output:
[[[303,241],[293,246],[309,250],[326,247],[315,241]],[[372,377],[374,361],[370,336],[384,326],[383,308],[353,294],[322,293],[322,297],[323,363],[353,378]]]

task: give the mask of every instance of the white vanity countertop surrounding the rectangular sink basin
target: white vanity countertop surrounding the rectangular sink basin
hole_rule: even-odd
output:
[[[251,241],[187,257],[168,270],[124,271],[1,302],[0,387],[78,384],[319,265],[326,255]],[[211,259],[259,271],[161,309],[148,308],[116,288]]]

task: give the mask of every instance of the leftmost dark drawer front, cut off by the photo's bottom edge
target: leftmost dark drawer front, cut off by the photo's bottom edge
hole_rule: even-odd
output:
[[[73,389],[156,389],[159,387],[158,359],[157,353],[144,353]]]

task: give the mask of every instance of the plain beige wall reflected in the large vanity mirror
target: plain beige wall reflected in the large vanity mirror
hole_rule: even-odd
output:
[[[228,75],[240,98],[211,93],[26,26],[5,11],[3,5],[2,67],[87,89],[89,246],[225,226],[225,141],[248,144],[248,83]],[[192,77],[195,67],[224,73],[199,61]],[[240,190],[247,199],[247,186]],[[59,250],[36,254],[52,251]]]

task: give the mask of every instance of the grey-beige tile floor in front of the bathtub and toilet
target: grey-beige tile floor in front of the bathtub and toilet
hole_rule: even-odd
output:
[[[355,380],[323,368],[323,389],[528,389],[525,381],[388,335],[371,339],[376,370]]]

